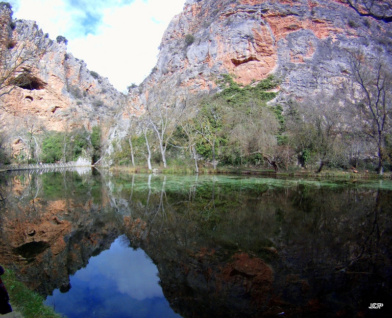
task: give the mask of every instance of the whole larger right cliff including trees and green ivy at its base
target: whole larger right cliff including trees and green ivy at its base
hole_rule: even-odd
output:
[[[188,0],[110,163],[390,170],[391,16],[389,1]]]

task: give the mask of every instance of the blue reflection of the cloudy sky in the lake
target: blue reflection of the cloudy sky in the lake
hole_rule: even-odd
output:
[[[142,249],[125,247],[118,238],[110,249],[92,257],[86,268],[71,276],[69,292],[48,296],[68,318],[180,317],[158,285],[158,269]]]

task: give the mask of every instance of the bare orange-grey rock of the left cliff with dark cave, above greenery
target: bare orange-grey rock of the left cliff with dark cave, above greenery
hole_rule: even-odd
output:
[[[33,21],[13,20],[6,6],[0,8],[1,37],[8,32],[9,41],[16,48],[26,41],[48,44],[44,54],[30,63],[29,81],[17,85],[10,94],[2,97],[1,121],[6,128],[14,129],[11,116],[19,118],[34,115],[47,130],[62,131],[78,126],[91,129],[104,119],[113,117],[114,111],[124,100],[107,78],[90,72],[86,63],[67,51],[67,40],[58,37],[51,41],[48,34],[39,30]],[[5,48],[2,48],[5,49]],[[30,61],[31,62],[31,61]],[[25,65],[22,65],[25,67]],[[16,75],[19,70],[17,70]]]

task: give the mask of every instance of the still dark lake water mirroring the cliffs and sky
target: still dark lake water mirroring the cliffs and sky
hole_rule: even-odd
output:
[[[391,181],[86,170],[0,192],[1,265],[69,318],[391,313]]]

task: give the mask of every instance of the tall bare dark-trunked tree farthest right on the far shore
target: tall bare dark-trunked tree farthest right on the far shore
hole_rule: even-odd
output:
[[[386,134],[392,115],[392,70],[381,54],[371,57],[362,51],[348,51],[351,76],[362,91],[359,103],[362,131],[377,145],[378,173],[383,174]]]

